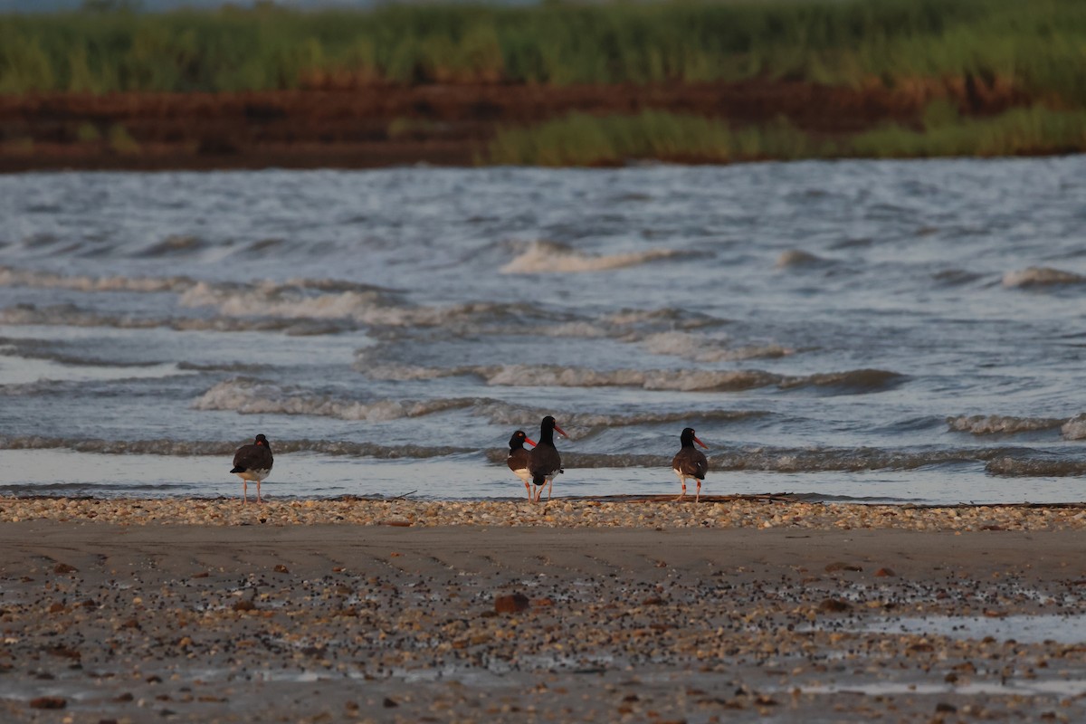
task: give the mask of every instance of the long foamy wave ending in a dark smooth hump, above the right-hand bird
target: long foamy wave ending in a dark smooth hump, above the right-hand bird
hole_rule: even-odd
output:
[[[495,386],[529,388],[641,388],[643,390],[742,391],[776,385],[784,390],[804,386],[838,388],[876,392],[905,379],[898,372],[858,369],[785,376],[763,370],[617,369],[595,370],[558,365],[479,365],[447,368],[370,366],[356,360],[355,369],[374,379],[435,379],[472,374]],[[383,377],[389,376],[389,377]]]

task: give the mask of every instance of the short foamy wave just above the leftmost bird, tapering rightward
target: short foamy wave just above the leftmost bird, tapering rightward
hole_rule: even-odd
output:
[[[229,410],[241,415],[313,415],[340,420],[379,421],[463,409],[471,407],[476,402],[473,397],[374,402],[336,399],[261,380],[236,378],[213,386],[192,403],[192,407],[200,410]]]

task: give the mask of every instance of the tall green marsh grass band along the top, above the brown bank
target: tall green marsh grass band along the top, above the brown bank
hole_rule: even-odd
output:
[[[0,93],[999,79],[1086,106],[1082,0],[675,0],[0,15]]]

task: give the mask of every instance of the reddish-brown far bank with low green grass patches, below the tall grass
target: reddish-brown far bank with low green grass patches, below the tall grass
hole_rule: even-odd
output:
[[[0,173],[613,166],[1086,150],[1086,138],[1074,132],[1082,113],[1032,103],[998,85],[889,90],[769,80],[34,93],[0,97]],[[948,116],[945,125],[931,127],[933,114]],[[570,140],[583,136],[603,140]],[[634,147],[616,140],[631,136],[640,139]],[[986,145],[976,145],[976,137]]]

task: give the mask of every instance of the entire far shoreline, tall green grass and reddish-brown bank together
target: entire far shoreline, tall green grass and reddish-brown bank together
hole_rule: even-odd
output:
[[[0,172],[1086,151],[1086,3],[0,14]]]

